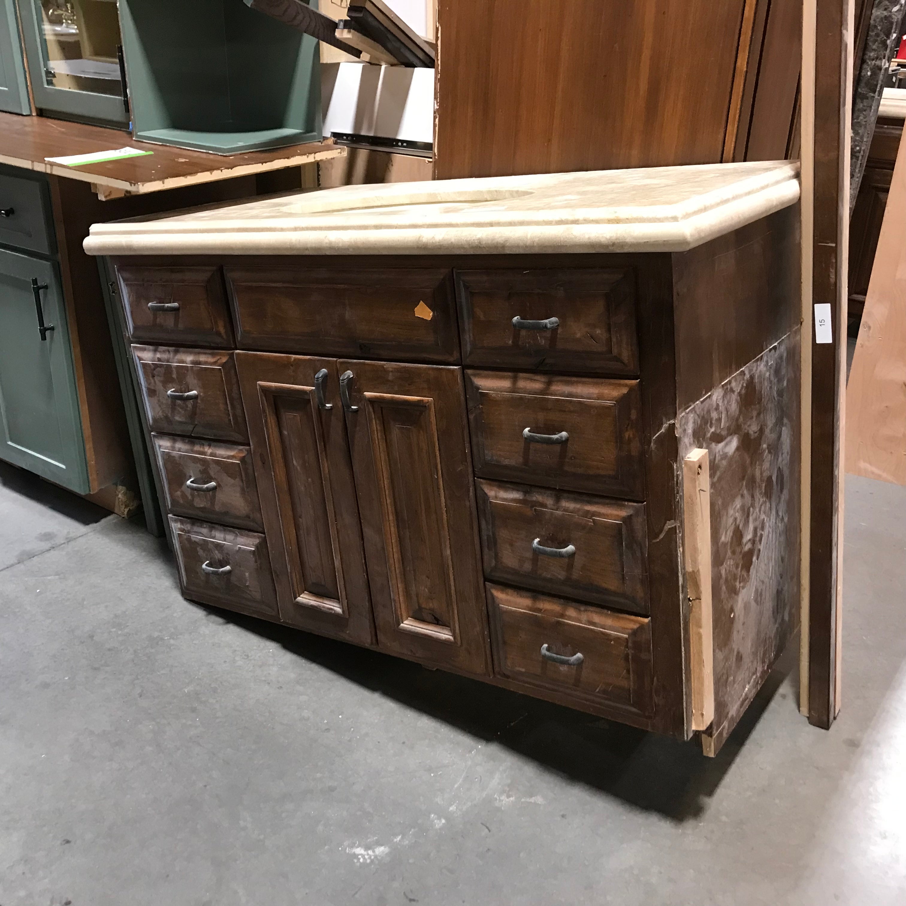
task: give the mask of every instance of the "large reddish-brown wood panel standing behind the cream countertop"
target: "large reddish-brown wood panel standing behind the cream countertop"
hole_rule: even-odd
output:
[[[784,159],[799,0],[439,0],[435,178]]]

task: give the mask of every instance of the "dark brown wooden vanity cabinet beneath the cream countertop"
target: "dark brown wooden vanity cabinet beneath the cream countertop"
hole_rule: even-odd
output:
[[[713,754],[796,628],[795,217],[681,254],[112,259],[184,593],[688,738],[706,448]]]

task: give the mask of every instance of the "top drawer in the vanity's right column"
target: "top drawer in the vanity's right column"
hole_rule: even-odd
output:
[[[457,271],[456,286],[467,365],[639,373],[631,271]]]

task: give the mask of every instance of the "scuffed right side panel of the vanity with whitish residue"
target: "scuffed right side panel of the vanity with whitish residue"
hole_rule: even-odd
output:
[[[798,208],[673,262],[679,463],[710,463],[713,755],[799,622]]]

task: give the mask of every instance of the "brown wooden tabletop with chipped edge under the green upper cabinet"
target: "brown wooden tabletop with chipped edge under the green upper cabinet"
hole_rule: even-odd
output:
[[[65,167],[44,160],[127,146],[153,151],[153,154],[81,167]],[[244,154],[211,154],[133,141],[128,132],[116,129],[0,113],[0,163],[90,182],[101,198],[144,195],[164,188],[298,167],[315,160],[341,157],[345,153],[344,148],[329,139]]]

